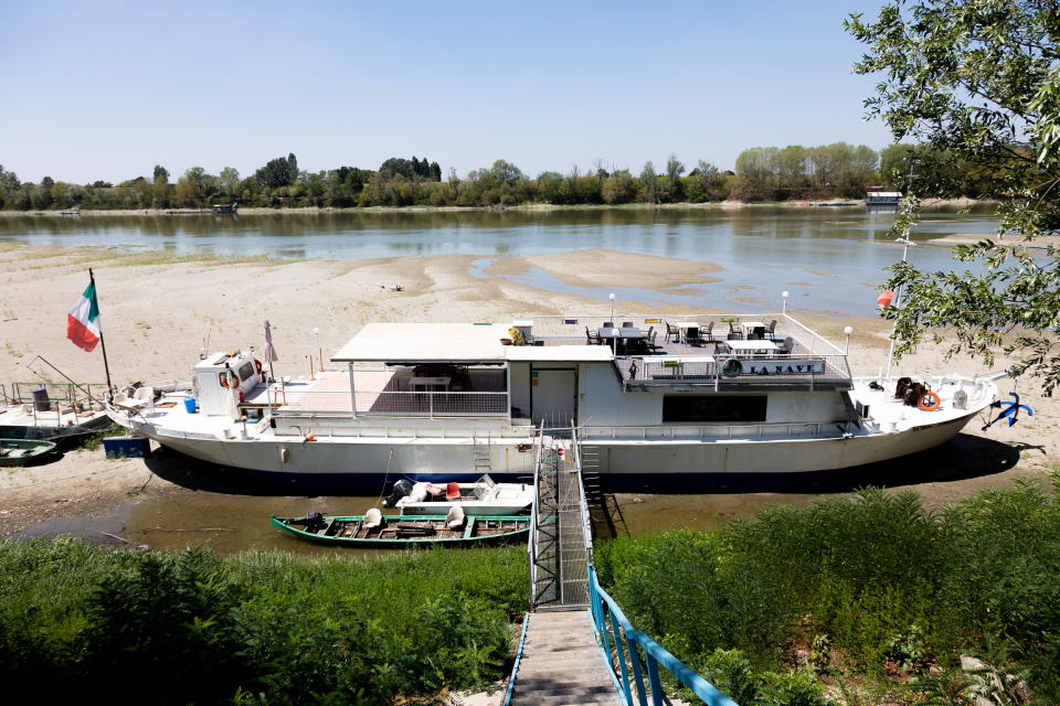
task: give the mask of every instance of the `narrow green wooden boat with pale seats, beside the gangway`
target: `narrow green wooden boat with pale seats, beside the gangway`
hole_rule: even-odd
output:
[[[317,542],[363,548],[407,546],[478,546],[524,541],[530,532],[527,515],[363,515],[335,516],[311,512],[304,517],[272,516],[273,526]]]

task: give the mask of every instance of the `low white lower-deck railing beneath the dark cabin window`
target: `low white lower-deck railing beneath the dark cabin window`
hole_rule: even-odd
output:
[[[704,424],[655,426],[583,426],[583,439],[667,441],[698,439],[807,439],[842,438],[852,434],[850,421],[776,421],[761,424]]]

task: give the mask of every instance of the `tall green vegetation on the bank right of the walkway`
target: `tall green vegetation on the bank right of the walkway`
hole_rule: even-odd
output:
[[[950,703],[940,694],[969,653],[1024,670],[1036,703],[1060,700],[1060,500],[1034,482],[940,511],[868,489],[712,533],[622,538],[595,560],[638,630],[755,702],[771,680],[810,673],[822,694]],[[725,676],[741,661],[748,675]]]

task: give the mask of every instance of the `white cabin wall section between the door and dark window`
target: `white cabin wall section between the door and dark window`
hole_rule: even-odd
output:
[[[662,420],[662,396],[623,393],[614,364],[577,366],[577,422],[590,426],[657,425]]]

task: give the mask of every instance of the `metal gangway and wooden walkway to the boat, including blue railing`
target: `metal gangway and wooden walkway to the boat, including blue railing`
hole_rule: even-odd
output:
[[[634,630],[601,588],[593,570],[577,429],[545,431],[542,424],[534,450],[530,610],[505,706],[662,706],[660,666],[710,706],[736,706],[651,638]]]

